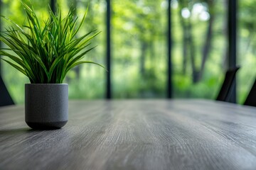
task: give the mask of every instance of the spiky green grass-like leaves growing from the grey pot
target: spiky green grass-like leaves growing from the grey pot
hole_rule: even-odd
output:
[[[83,63],[97,64],[82,61],[82,58],[94,48],[89,47],[90,40],[100,32],[92,30],[76,38],[87,11],[80,23],[78,17],[74,17],[75,8],[70,8],[65,18],[61,13],[54,14],[50,11],[50,17],[44,21],[44,26],[41,26],[33,7],[30,8],[23,1],[21,4],[25,8],[28,24],[18,26],[3,16],[11,21],[17,30],[10,26],[1,32],[0,40],[9,48],[2,47],[0,55],[9,57],[11,61],[3,58],[2,60],[25,74],[31,83],[62,83],[67,72],[73,67]]]

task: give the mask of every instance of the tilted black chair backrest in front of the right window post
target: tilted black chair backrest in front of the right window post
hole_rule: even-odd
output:
[[[233,69],[228,69],[225,73],[225,79],[223,85],[220,88],[220,92],[216,98],[216,101],[229,101],[234,84],[235,84],[235,74],[238,72],[240,67],[235,67]]]

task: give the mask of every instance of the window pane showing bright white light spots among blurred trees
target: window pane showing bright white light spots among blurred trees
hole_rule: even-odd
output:
[[[172,1],[174,98],[215,98],[227,67],[225,1]]]

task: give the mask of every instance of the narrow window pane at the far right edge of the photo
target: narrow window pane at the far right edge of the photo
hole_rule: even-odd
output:
[[[238,102],[244,103],[256,78],[256,1],[238,3]]]

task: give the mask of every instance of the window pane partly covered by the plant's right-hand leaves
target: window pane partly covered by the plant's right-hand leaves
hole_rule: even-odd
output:
[[[104,0],[58,0],[58,8],[67,13],[70,6],[77,8],[78,21],[88,7],[85,23],[80,28],[78,36],[85,35],[92,30],[101,31],[93,40],[90,47],[95,47],[85,55],[83,60],[105,65],[105,13]],[[96,33],[95,32],[95,33]],[[105,69],[95,64],[81,64],[72,69],[65,79],[69,85],[69,98],[104,98],[105,97]]]

